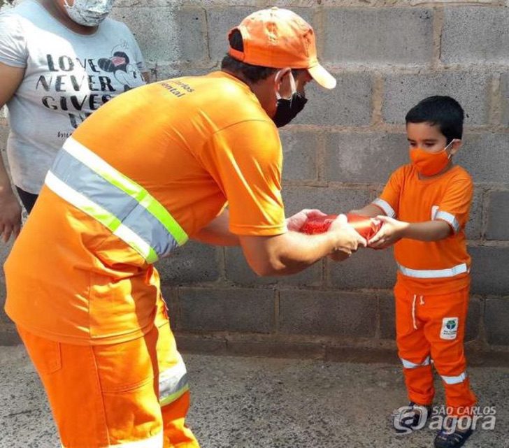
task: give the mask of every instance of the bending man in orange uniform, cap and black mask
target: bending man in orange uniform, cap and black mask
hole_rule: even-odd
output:
[[[243,20],[230,43],[222,71],[131,90],[89,117],[64,143],[6,261],[6,312],[66,448],[198,446],[152,266],[188,238],[240,244],[259,275],[366,245],[344,216],[320,236],[296,231],[317,210],[285,219],[271,119],[278,89],[293,84],[292,69],[301,92],[312,78],[336,84],[317,61],[313,29],[272,8]]]

